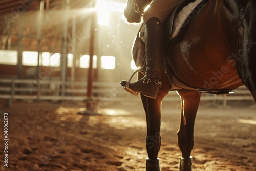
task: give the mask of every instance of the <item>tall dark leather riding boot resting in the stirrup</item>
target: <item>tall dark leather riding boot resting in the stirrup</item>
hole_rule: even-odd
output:
[[[165,49],[164,24],[156,17],[144,25],[146,72],[136,82],[122,81],[124,89],[134,95],[142,93],[146,97],[156,98],[161,86],[162,63]]]

